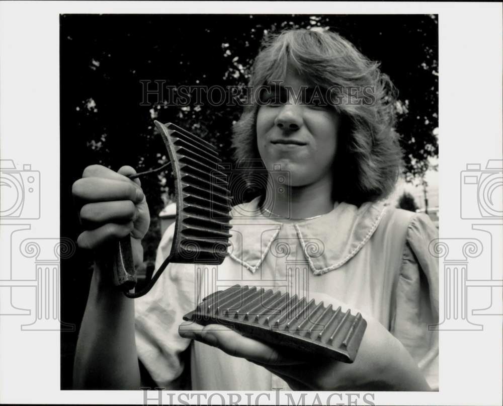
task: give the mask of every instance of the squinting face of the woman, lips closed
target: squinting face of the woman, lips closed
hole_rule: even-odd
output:
[[[309,103],[313,89],[289,66],[280,86],[261,94],[257,114],[260,156],[269,171],[278,164],[281,171],[288,171],[290,186],[332,179],[341,117],[332,106],[318,105],[319,98],[312,97],[314,103]]]

